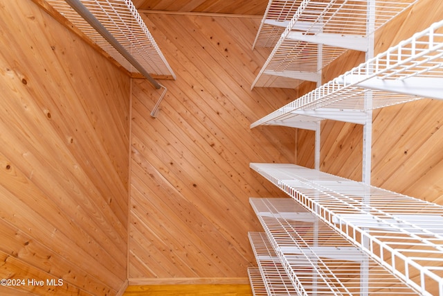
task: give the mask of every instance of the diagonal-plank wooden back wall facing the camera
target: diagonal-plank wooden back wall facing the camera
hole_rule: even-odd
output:
[[[295,98],[250,90],[269,51],[252,51],[260,19],[149,15],[176,81],[134,80],[129,284],[246,284],[250,196],[281,196],[250,162],[293,162],[294,131],[251,122]]]

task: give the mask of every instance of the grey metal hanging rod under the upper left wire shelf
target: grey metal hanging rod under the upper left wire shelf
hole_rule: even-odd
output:
[[[75,10],[81,17],[84,18],[85,21],[88,22],[100,35],[102,35],[109,44],[114,46],[114,48],[121,54],[123,57],[130,62],[140,73],[145,76],[147,80],[151,82],[151,84],[156,88],[159,89],[161,86],[159,82],[156,82],[154,78],[150,76],[150,73],[147,73],[145,68],[139,64],[136,59],[132,57],[132,55],[116,40],[116,38],[107,31],[107,28],[103,26],[96,17],[93,16],[93,14],[86,8],[83,3],[80,0],[66,0],[66,3],[68,3],[73,10]]]

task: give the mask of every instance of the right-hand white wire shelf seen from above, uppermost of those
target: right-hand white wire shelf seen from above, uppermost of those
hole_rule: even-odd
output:
[[[443,207],[295,164],[251,168],[420,295],[443,295]]]

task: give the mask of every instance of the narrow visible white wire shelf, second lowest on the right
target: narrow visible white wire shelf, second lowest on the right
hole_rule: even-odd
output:
[[[248,237],[259,266],[259,274],[256,277],[262,280],[262,286],[255,284],[255,288],[260,288],[260,291],[264,289],[264,295],[270,296],[300,295],[289,280],[266,235],[260,232],[249,232]],[[258,289],[254,290],[259,292]]]

